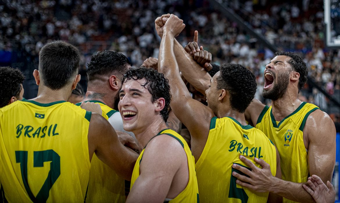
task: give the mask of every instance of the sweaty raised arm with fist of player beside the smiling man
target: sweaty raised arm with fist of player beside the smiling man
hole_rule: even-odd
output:
[[[180,76],[174,54],[174,37],[184,29],[183,21],[171,15],[164,25],[164,34],[159,48],[158,69],[168,79],[171,87],[171,109],[196,139],[206,142],[210,120],[214,113],[210,108],[191,98]],[[198,157],[195,157],[198,160]]]

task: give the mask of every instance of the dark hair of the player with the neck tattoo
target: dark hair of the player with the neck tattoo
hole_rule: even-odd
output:
[[[127,70],[127,64],[131,63],[124,54],[110,50],[97,52],[91,56],[91,61],[87,64],[88,80],[95,80],[98,75],[115,74],[122,76]]]

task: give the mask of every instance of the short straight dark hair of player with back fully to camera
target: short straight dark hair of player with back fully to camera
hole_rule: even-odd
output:
[[[39,73],[44,85],[59,90],[78,73],[80,52],[72,44],[53,41],[41,48]]]

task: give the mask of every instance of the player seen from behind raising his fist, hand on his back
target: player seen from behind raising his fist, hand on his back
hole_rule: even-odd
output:
[[[202,202],[266,202],[267,193],[253,193],[236,187],[232,165],[239,156],[265,159],[271,174],[280,177],[279,157],[271,141],[258,129],[246,125],[244,110],[256,92],[255,76],[238,64],[223,64],[206,90],[208,107],[191,98],[184,85],[174,55],[174,37],[184,27],[171,14],[163,27],[158,67],[169,78],[171,109],[191,134],[192,153]],[[216,115],[216,116],[215,116]],[[257,164],[259,166],[259,164]],[[247,169],[248,170],[248,169]],[[277,200],[279,201],[279,199]]]

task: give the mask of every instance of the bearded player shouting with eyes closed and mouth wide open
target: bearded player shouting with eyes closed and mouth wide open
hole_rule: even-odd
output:
[[[335,165],[336,131],[333,121],[317,106],[298,99],[307,74],[306,63],[301,57],[290,52],[275,53],[264,71],[262,94],[272,100],[271,106],[255,100],[245,112],[256,128],[262,130],[277,147],[282,180],[270,174],[271,164],[260,160],[258,163],[261,163],[262,169],[246,171],[250,178],[236,174],[238,182],[257,192],[267,191],[283,196],[284,202],[313,201],[303,188],[309,174],[319,176],[324,182],[331,181]],[[241,160],[252,168],[248,160]]]

